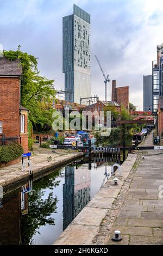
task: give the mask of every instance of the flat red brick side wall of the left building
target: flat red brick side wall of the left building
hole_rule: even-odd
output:
[[[0,77],[0,121],[6,136],[20,135],[19,78]]]

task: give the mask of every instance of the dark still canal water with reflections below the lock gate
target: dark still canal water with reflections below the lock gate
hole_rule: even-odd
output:
[[[105,161],[82,159],[4,194],[1,245],[52,245],[110,178],[114,162]]]

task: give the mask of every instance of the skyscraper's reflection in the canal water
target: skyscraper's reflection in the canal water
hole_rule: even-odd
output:
[[[90,201],[91,172],[86,166],[74,170],[74,166],[65,167],[63,185],[63,230]]]

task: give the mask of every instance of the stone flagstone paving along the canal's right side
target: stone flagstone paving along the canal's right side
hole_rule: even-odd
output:
[[[152,133],[144,145],[151,145]],[[163,152],[149,150],[140,161],[105,245],[163,245]],[[163,192],[160,192],[163,196]],[[112,241],[115,230],[123,239]]]

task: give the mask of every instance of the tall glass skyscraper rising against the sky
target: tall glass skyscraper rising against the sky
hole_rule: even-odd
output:
[[[73,14],[63,17],[62,69],[65,73],[65,100],[80,103],[91,96],[90,14],[73,5]]]

